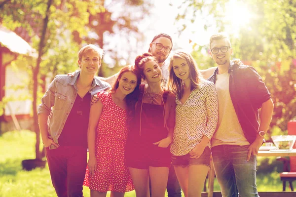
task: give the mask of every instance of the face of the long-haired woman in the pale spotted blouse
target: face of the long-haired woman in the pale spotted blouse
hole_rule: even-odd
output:
[[[172,68],[175,75],[182,80],[189,79],[190,70],[188,63],[185,59],[182,58],[174,58],[172,61]]]

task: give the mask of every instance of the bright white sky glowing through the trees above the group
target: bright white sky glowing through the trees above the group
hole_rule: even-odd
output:
[[[192,44],[189,44],[189,39],[198,45],[207,45],[209,38],[212,34],[217,33],[217,28],[215,26],[208,28],[207,31],[204,30],[205,24],[214,24],[215,21],[211,20],[210,17],[199,15],[195,18],[194,22],[191,23],[191,17],[185,18],[184,20],[176,21],[176,16],[178,13],[183,13],[184,8],[187,6],[182,6],[180,4],[184,0],[151,0],[154,7],[150,10],[150,17],[148,17],[143,22],[139,23],[139,29],[144,32],[145,42],[143,46],[138,46],[137,52],[132,56],[147,52],[148,45],[152,38],[159,33],[166,33],[173,38],[174,49],[184,49],[185,51],[192,51]],[[209,1],[206,1],[209,3]],[[224,20],[229,22],[229,26],[226,27],[226,33],[229,35],[236,36],[239,28],[246,25],[251,18],[251,13],[248,11],[247,6],[239,0],[229,0],[226,4],[226,14]],[[121,9],[118,5],[118,9]],[[221,12],[221,8],[217,7],[217,13]],[[187,10],[187,15],[190,16],[193,10]],[[179,36],[178,28],[182,28],[182,25],[186,24],[187,28]],[[137,40],[132,39],[132,35],[129,36],[127,42],[126,40],[120,40],[121,47],[126,47],[127,45],[136,44]],[[114,39],[114,36],[111,38]],[[116,43],[111,47],[120,47],[120,43]],[[124,50],[122,50],[124,52]],[[137,54],[136,54],[137,53]],[[107,57],[106,57],[107,56]],[[108,54],[105,56],[105,61],[108,63],[112,61]],[[122,62],[124,64],[124,62]]]

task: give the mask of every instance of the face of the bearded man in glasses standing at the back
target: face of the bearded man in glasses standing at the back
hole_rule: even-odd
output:
[[[156,43],[160,43],[164,47],[169,47],[172,49],[172,42],[168,38],[160,37],[158,39],[155,39],[153,43],[150,43],[151,54],[156,57],[159,63],[163,63],[168,58],[170,53],[164,52],[164,48],[162,48],[161,50],[157,49]]]

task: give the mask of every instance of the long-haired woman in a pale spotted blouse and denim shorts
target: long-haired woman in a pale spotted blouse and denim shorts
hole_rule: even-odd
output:
[[[169,70],[168,87],[177,95],[172,164],[185,197],[201,197],[218,122],[216,87],[202,79],[189,53],[175,52]]]

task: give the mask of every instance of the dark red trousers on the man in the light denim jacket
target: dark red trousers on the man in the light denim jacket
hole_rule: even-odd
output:
[[[82,184],[87,164],[84,147],[46,148],[52,185],[58,197],[83,197]]]

